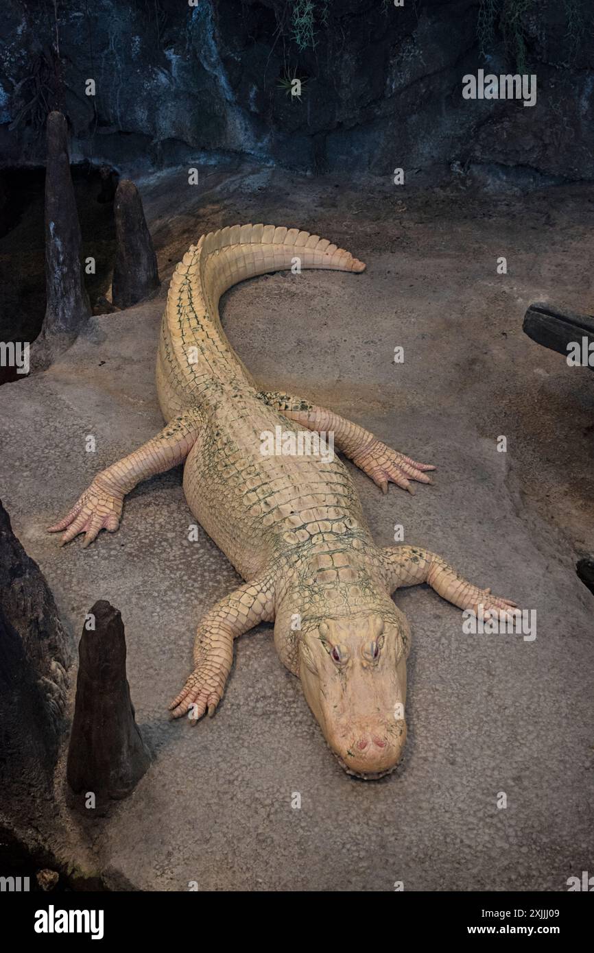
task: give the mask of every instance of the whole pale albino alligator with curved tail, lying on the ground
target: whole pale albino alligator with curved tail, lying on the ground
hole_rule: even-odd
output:
[[[357,424],[300,397],[262,391],[232,350],[218,300],[237,281],[288,269],[362,272],[329,241],[273,225],[236,225],[200,238],[177,266],[156,362],[160,434],[96,476],[51,532],[88,545],[117,529],[123,499],[142,479],[186,461],[190,509],[245,583],[200,621],[194,671],[174,717],[213,715],[237,636],[275,623],[277,653],[303,685],[332,751],[351,774],[378,778],[399,761],[406,736],[410,630],[392,601],[399,586],[427,582],[462,609],[508,610],[446,562],[416,546],[379,548],[346,467],[335,457],[264,456],[262,436],[334,434],[338,449],[387,492],[413,492],[432,466],[391,450]],[[311,434],[310,434],[311,436]]]

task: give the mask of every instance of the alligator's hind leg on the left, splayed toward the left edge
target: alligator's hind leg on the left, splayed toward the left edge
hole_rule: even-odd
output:
[[[48,532],[61,533],[66,530],[60,540],[61,546],[79,533],[85,534],[83,546],[88,546],[102,529],[113,533],[119,526],[126,494],[141,480],[183,463],[195,443],[200,423],[197,411],[175,417],[160,434],[133,454],[124,456],[97,474],[91,486],[74,503],[70,513],[49,526]]]

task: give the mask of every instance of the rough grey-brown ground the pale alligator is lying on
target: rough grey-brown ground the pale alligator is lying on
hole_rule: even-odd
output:
[[[206,173],[197,187],[187,170],[139,181],[161,294],[97,318],[93,339],[45,375],[0,390],[13,528],[73,638],[95,599],[121,610],[154,754],[108,818],[72,816],[59,778],[54,847],[89,865],[92,845],[110,885],[147,890],[566,889],[594,862],[594,601],[575,574],[594,548],[594,376],[522,335],[522,315],[534,300],[591,313],[594,189],[478,197],[252,167]],[[409,740],[382,781],[342,772],[269,626],[236,643],[215,719],[167,719],[197,619],[237,581],[208,537],[188,540],[180,469],[138,487],[119,532],[85,552],[44,532],[94,473],[160,429],[154,352],[169,276],[200,233],[237,221],[298,225],[367,262],[361,275],[256,278],[226,295],[222,316],[267,387],[316,398],[439,465],[415,497],[382,497],[351,468],[379,543],[401,523],[406,542],[537,611],[534,641],[470,636],[425,587],[397,596],[414,636]]]

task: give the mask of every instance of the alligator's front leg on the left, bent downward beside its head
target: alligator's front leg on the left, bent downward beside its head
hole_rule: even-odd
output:
[[[270,577],[239,586],[218,602],[198,626],[194,671],[169,706],[174,718],[188,715],[195,722],[208,708],[209,716],[223,696],[233,664],[233,642],[258,622],[275,618],[274,588]]]

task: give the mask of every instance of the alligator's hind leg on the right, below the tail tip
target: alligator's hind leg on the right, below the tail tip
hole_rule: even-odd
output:
[[[388,492],[388,482],[396,483],[402,490],[415,493],[411,479],[431,483],[425,471],[435,470],[428,463],[418,463],[410,456],[399,454],[364,427],[359,427],[345,417],[338,416],[326,407],[317,407],[309,400],[280,394],[262,392],[259,395],[289,420],[295,420],[308,430],[334,434],[335,445],[355,463],[363,473],[370,476],[383,493]]]

